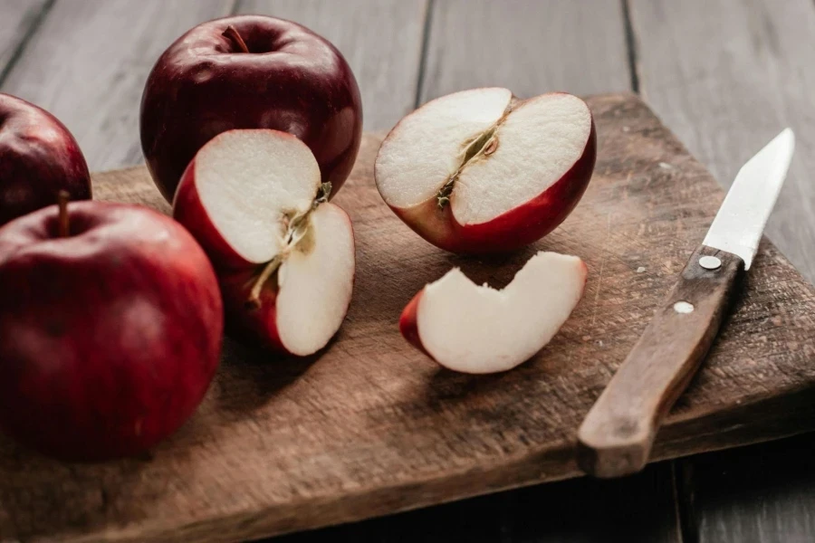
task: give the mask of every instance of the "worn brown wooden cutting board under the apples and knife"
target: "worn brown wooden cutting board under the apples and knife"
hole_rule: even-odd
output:
[[[637,97],[589,103],[599,156],[582,202],[534,247],[491,260],[448,254],[408,230],[379,198],[379,138],[366,136],[335,200],[357,233],[357,282],[330,346],[280,359],[227,338],[204,404],[149,457],[71,465],[0,438],[0,539],[234,541],[580,475],[582,417],[723,196]],[[169,210],[143,167],[94,176],[94,191]],[[503,286],[542,249],[580,255],[589,283],[522,367],[458,375],[399,335],[408,300],[451,267]],[[765,241],[655,459],[815,427],[813,355],[815,291]]]

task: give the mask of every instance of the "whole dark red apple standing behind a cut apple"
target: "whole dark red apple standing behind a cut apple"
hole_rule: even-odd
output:
[[[232,25],[249,53],[222,35]],[[337,193],[362,137],[362,101],[348,62],[307,28],[263,15],[199,24],[169,46],[141,100],[141,147],[161,194],[173,199],[197,150],[229,129],[300,138]]]

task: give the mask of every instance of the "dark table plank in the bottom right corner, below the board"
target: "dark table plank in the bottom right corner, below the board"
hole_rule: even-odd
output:
[[[699,543],[809,543],[815,534],[815,434],[681,463]]]

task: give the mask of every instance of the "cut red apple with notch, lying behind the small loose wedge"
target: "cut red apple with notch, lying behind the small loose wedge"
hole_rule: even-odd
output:
[[[428,242],[506,252],[550,233],[589,184],[597,136],[589,107],[555,92],[455,92],[400,120],[382,142],[379,194]]]

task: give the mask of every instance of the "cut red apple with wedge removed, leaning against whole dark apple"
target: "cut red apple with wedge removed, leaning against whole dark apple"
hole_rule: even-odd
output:
[[[187,167],[173,213],[215,264],[227,326],[284,353],[325,347],[354,281],[350,218],[312,151],[277,130],[231,130]]]

